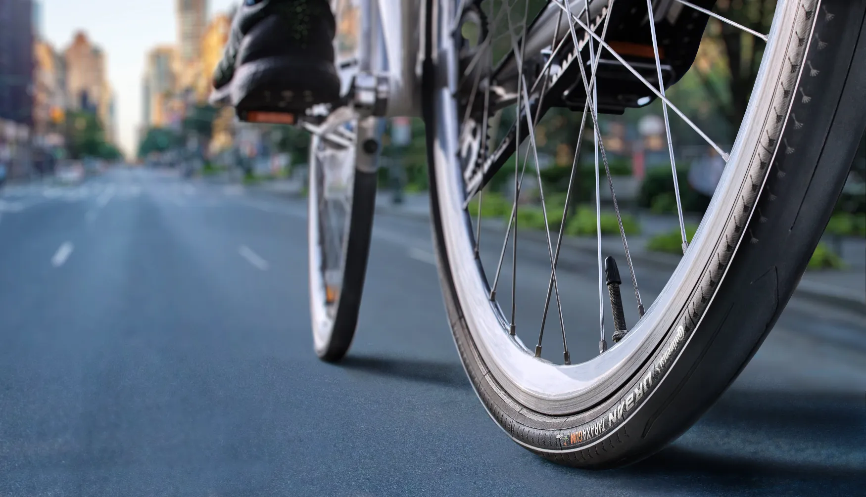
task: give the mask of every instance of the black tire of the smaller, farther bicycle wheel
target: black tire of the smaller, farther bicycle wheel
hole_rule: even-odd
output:
[[[368,139],[378,138],[376,119],[366,119],[356,124],[357,137],[353,145],[352,200],[342,254],[342,281],[339,297],[326,303],[323,286],[323,269],[320,246],[320,184],[317,181],[320,162],[313,157],[322,139],[313,136],[310,145],[310,174],[308,188],[308,233],[310,313],[313,327],[313,349],[325,361],[335,362],[343,358],[352,345],[358,324],[361,295],[367,258],[370,254],[373,214],[376,207],[376,161],[378,150],[365,149]]]

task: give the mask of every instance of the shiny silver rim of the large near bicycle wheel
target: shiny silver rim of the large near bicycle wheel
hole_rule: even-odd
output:
[[[572,12],[578,10],[573,5],[578,2],[565,5],[566,0],[561,1]],[[681,3],[688,6],[688,3]],[[455,19],[456,10],[453,8],[456,5],[450,2],[442,4],[445,7],[442,18]],[[805,48],[792,48],[797,45],[793,41],[793,34],[805,32],[811,23],[807,16],[801,15],[800,10],[801,3],[794,1],[780,3],[776,9],[753,96],[730,152],[727,167],[679,267],[643,318],[622,341],[597,357],[577,365],[554,365],[535,358],[530,347],[524,345],[516,335],[509,334],[509,318],[502,313],[498,304],[488,299],[490,285],[478,270],[479,262],[474,256],[475,233],[465,210],[467,199],[464,177],[453,159],[460,156],[461,150],[466,150],[465,143],[462,144],[460,140],[462,116],[452,97],[457,92],[460,77],[455,70],[458,67],[456,48],[449,36],[439,37],[438,68],[449,71],[449,74],[447,87],[437,88],[434,95],[436,144],[433,166],[436,168],[445,253],[455,281],[456,298],[462,308],[467,310],[463,318],[478,352],[502,388],[520,403],[550,415],[585,410],[601,402],[625,378],[630,378],[671,327],[675,326],[675,319],[682,307],[701,282],[704,268],[708,267],[716,254],[717,244],[730,229],[729,217],[739,204],[740,190],[759,161],[759,141],[763,133],[772,136],[772,133],[780,132],[782,125],[775,119],[767,119],[767,116],[774,108],[787,112],[790,98],[779,91],[779,86],[792,88],[792,78],[796,80],[798,77],[798,74],[787,74],[789,71],[785,68],[788,67],[787,57],[792,55],[792,51],[805,51]],[[446,27],[440,31],[447,32],[447,22],[443,21],[443,25]],[[598,39],[595,41],[598,42]],[[520,97],[517,98],[520,101]],[[553,261],[552,244],[548,248]],[[555,281],[555,276],[552,280]]]

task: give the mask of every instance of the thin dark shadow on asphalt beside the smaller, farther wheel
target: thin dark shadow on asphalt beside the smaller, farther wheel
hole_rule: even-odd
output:
[[[460,363],[378,356],[347,356],[339,365],[350,370],[365,371],[419,383],[436,384],[460,390],[472,388]]]

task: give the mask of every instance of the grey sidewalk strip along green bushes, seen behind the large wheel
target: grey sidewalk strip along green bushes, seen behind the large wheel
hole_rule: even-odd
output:
[[[427,220],[430,218],[430,199],[426,193],[407,194],[404,195],[402,204],[394,204],[391,202],[391,192],[379,192],[376,197],[376,210],[393,216]],[[643,212],[638,214],[638,218],[642,233],[628,238],[632,260],[673,270],[679,263],[680,257],[647,250],[646,243],[651,236],[676,228],[679,221],[674,216],[658,216]],[[686,220],[687,223],[697,223],[697,221],[699,220]],[[493,229],[500,235],[504,233],[505,227],[505,223],[501,220],[490,220],[482,224],[483,229]],[[527,230],[524,230],[523,234],[528,235]],[[533,236],[537,236],[541,242],[546,242],[546,236],[542,231]],[[824,242],[833,246],[833,243],[838,241],[828,236]],[[563,245],[589,251],[592,254],[597,250],[595,237],[569,236],[563,240]],[[848,268],[842,271],[806,271],[794,295],[866,315],[866,240],[844,239],[841,241],[841,248]],[[623,242],[619,236],[604,236],[602,250],[622,252]]]

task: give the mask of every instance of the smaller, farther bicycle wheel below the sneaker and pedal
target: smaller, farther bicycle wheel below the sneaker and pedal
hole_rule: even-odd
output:
[[[329,126],[332,127],[332,126]],[[309,282],[313,348],[346,355],[361,304],[376,204],[377,119],[313,133],[309,170]],[[366,146],[365,146],[366,145]]]

